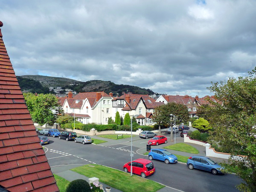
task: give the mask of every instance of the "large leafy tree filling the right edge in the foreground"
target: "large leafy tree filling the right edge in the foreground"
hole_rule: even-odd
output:
[[[236,168],[244,182],[238,185],[241,191],[256,191],[256,67],[247,77],[229,78],[212,83],[208,87],[218,103],[212,108],[213,131],[208,140],[218,143],[222,150],[231,154],[230,166]],[[233,158],[244,155],[237,160]],[[228,164],[223,163],[227,168]]]

